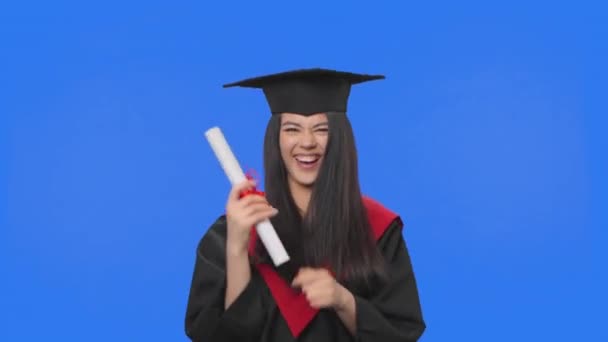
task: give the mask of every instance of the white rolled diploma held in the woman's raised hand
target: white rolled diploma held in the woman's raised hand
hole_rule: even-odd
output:
[[[232,150],[219,127],[213,127],[207,130],[207,132],[205,132],[205,137],[207,138],[207,141],[209,141],[213,152],[215,152],[230,183],[234,186],[235,184],[247,180],[247,177],[245,177],[239,162],[236,160],[236,157],[232,153]],[[266,219],[258,223],[256,225],[256,232],[266,247],[266,250],[268,250],[268,254],[270,254],[275,266],[279,266],[289,261],[287,251],[285,250],[285,247],[283,247],[283,243],[279,239],[270,220]]]

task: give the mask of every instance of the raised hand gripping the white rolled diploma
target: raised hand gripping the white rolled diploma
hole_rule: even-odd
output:
[[[234,253],[247,251],[251,228],[278,213],[270,206],[266,198],[260,195],[247,195],[240,198],[243,191],[255,186],[253,180],[235,185],[226,203],[227,248]]]

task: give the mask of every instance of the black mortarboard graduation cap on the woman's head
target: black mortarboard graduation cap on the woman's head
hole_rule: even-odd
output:
[[[328,69],[299,69],[248,78],[228,87],[261,88],[272,114],[311,115],[346,112],[351,85],[384,79],[383,75],[355,74]]]

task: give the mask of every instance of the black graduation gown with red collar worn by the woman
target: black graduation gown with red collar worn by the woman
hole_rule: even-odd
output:
[[[426,328],[401,219],[366,198],[389,281],[355,298],[356,333],[333,309],[315,310],[281,278],[274,265],[252,265],[251,280],[224,309],[226,219],[220,216],[196,249],[185,330],[192,341],[417,341]]]

